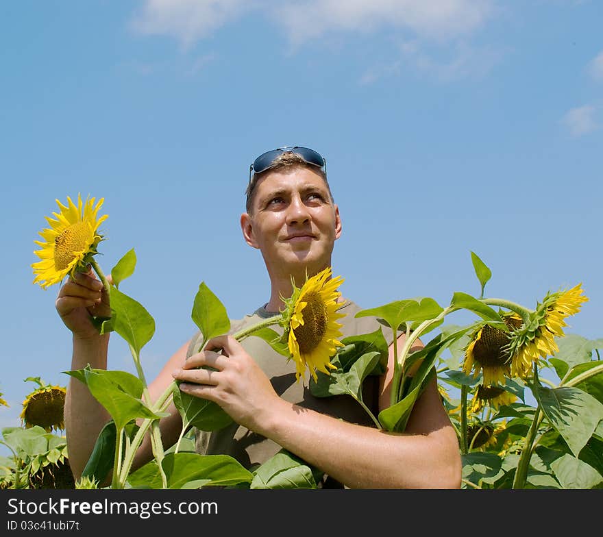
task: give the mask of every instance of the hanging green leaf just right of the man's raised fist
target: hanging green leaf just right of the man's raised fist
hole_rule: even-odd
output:
[[[115,287],[110,287],[112,328],[140,355],[155,333],[155,320],[143,305]]]

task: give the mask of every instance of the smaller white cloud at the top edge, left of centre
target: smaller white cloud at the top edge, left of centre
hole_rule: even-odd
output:
[[[245,0],[145,0],[132,21],[141,34],[168,35],[189,47],[249,8]]]

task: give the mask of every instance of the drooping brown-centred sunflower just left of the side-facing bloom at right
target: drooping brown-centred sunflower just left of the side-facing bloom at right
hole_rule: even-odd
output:
[[[503,321],[509,327],[517,324],[511,315],[503,316]],[[465,349],[463,371],[467,375],[473,371],[476,378],[481,372],[482,384],[486,386],[505,384],[505,376],[510,375],[510,358],[509,333],[484,324],[473,333]]]

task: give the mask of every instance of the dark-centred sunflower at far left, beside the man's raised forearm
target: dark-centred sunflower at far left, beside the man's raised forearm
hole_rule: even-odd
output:
[[[25,428],[38,425],[46,432],[51,432],[53,429],[64,429],[63,409],[66,389],[62,386],[49,386],[40,382],[38,378],[28,380],[38,382],[40,387],[31,392],[23,401],[23,411],[20,417]]]

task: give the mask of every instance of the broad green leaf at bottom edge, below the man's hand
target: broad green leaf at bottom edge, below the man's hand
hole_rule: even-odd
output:
[[[253,474],[229,455],[168,453],[162,460],[167,488],[198,486],[235,486],[251,483]],[[132,488],[161,488],[161,476],[155,461],[131,473],[127,478]]]

